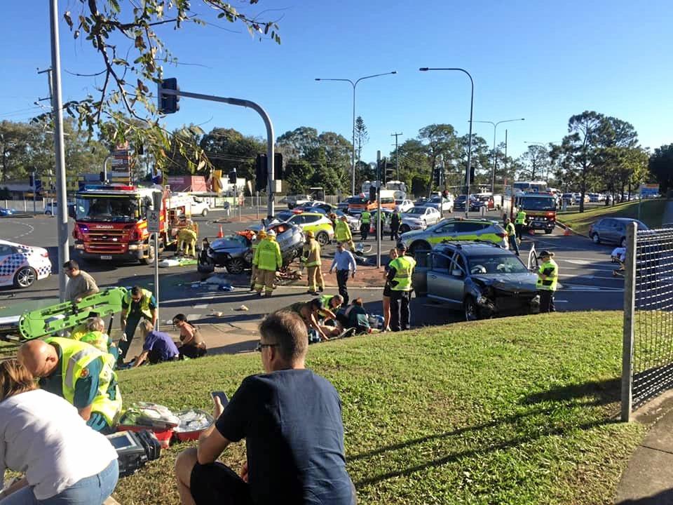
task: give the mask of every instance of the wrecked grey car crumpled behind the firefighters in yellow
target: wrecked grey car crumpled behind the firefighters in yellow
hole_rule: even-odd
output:
[[[255,224],[247,231],[257,232],[259,229],[261,226]],[[304,248],[304,233],[300,227],[283,222],[271,224],[266,229],[276,231],[276,241],[280,246],[284,265],[290,264],[295,257],[301,255]],[[215,238],[208,248],[208,259],[215,267],[225,267],[229,274],[240,274],[252,267],[252,241],[252,233],[245,231]]]

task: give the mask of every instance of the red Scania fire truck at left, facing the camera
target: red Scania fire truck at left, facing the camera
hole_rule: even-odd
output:
[[[191,215],[191,197],[158,187],[114,184],[85,186],[76,194],[75,255],[81,260],[154,262],[154,236],[147,213],[161,196],[159,250],[176,242],[180,215]],[[157,196],[157,200],[158,200]]]

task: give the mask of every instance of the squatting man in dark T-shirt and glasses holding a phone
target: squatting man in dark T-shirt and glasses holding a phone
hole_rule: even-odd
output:
[[[259,332],[266,373],[243,379],[226,408],[215,398],[217,421],[177,457],[182,504],[355,504],[341,400],[332,384],[304,368],[304,321],[278,311]],[[242,438],[247,462],[239,476],[217,459]]]

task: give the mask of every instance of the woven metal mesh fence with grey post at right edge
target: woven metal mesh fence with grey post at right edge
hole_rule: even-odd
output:
[[[673,228],[627,228],[622,419],[673,387]]]

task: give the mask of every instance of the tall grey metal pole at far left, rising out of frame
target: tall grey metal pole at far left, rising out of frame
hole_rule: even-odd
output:
[[[68,201],[65,176],[65,151],[63,147],[63,104],[61,98],[61,57],[58,40],[58,0],[49,2],[51,28],[51,107],[54,119],[54,152],[56,156],[56,217],[58,224],[58,291],[61,302],[65,299],[67,277],[63,264],[70,259],[68,243]]]

